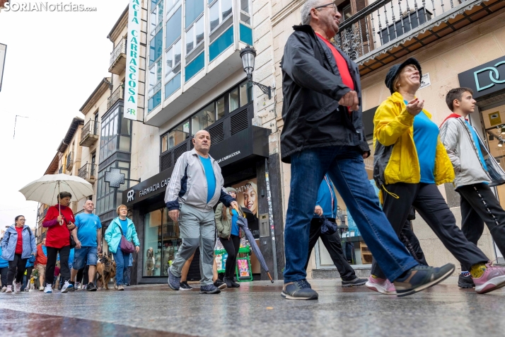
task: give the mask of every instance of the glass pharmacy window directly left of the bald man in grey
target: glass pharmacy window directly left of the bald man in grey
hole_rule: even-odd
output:
[[[167,276],[178,248],[179,226],[168,217],[168,209],[149,212],[144,217],[143,276]]]

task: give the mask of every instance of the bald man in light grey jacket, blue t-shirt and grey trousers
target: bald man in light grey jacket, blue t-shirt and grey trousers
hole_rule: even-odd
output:
[[[223,188],[221,168],[209,155],[209,132],[200,130],[192,142],[195,148],[178,158],[165,193],[168,215],[179,223],[182,239],[177,256],[168,268],[168,285],[179,290],[182,267],[199,246],[200,294],[218,294],[221,290],[212,282],[216,231],[213,207],[218,202],[226,207],[238,207],[238,203]]]

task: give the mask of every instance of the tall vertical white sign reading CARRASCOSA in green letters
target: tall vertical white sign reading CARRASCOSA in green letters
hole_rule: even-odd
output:
[[[123,117],[137,120],[137,101],[139,99],[139,54],[141,0],[130,0],[128,8],[127,67],[124,79]]]

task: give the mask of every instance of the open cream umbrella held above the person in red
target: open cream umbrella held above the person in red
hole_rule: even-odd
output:
[[[68,174],[46,174],[42,178],[32,181],[19,192],[23,193],[26,200],[42,202],[46,205],[58,203],[60,190],[71,193],[70,201],[78,201],[93,195],[93,185],[83,178],[69,176]],[[60,211],[61,214],[61,211]]]

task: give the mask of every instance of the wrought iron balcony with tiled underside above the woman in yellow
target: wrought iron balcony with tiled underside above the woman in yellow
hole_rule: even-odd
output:
[[[364,75],[504,7],[502,0],[377,0],[342,22],[335,42]]]

